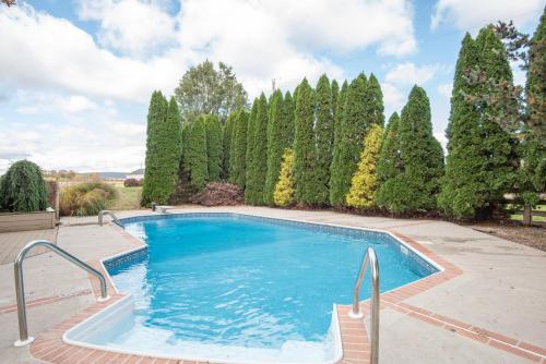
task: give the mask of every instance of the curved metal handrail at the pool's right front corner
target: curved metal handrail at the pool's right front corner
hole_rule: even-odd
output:
[[[371,350],[370,363],[377,364],[379,360],[379,262],[377,259],[376,251],[370,246],[366,251],[360,265],[360,271],[355,282],[355,291],[353,296],[353,310],[349,311],[349,316],[354,318],[361,318],[364,314],[360,312],[359,294],[360,287],[363,286],[364,276],[368,265],[371,270]]]

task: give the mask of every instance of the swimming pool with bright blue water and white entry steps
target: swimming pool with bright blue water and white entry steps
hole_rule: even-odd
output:
[[[333,362],[334,304],[349,304],[368,246],[381,291],[438,269],[388,233],[237,214],[123,219],[147,248],[105,266],[122,300],[70,340],[224,362]],[[369,298],[366,281],[361,299]]]

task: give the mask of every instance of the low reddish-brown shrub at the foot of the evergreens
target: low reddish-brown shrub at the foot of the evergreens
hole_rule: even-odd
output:
[[[224,182],[210,182],[194,194],[190,201],[203,206],[234,206],[242,205],[245,197],[242,191],[235,184]]]

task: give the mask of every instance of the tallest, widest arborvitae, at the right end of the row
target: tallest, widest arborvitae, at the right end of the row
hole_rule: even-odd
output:
[[[438,205],[451,217],[489,217],[514,182],[515,142],[492,120],[501,110],[471,102],[470,98],[487,89],[466,78],[468,70],[479,68],[487,78],[511,84],[502,47],[490,27],[482,29],[475,41],[467,34],[462,43],[447,130],[446,177],[438,196]]]

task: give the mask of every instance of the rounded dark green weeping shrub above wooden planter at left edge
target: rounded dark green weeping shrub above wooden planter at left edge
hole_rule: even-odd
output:
[[[38,166],[28,160],[11,165],[0,177],[0,209],[41,211],[48,206],[47,187]]]

